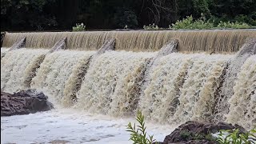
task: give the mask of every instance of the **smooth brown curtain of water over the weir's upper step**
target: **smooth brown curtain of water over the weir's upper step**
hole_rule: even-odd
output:
[[[172,38],[179,40],[178,51],[237,52],[246,38],[255,38],[256,30],[132,30],[87,32],[6,33],[3,47],[26,37],[26,47],[50,48],[67,38],[69,50],[98,50],[106,39],[115,38],[115,50],[157,51]]]

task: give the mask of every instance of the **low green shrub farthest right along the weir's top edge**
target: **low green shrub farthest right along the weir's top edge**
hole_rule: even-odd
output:
[[[245,29],[245,28],[249,28],[250,25],[248,25],[245,22],[219,22],[218,23],[218,28],[233,28],[233,29]]]

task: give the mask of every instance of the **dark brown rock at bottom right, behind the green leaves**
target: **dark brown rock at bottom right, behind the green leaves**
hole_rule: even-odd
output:
[[[214,124],[188,121],[181,126],[178,126],[178,128],[175,129],[170,135],[167,135],[163,143],[211,144],[216,142],[210,136],[210,134],[217,133],[219,130],[234,129],[238,129],[240,133],[246,132],[246,130],[242,126],[232,126],[231,124],[226,122],[218,122],[218,124]]]

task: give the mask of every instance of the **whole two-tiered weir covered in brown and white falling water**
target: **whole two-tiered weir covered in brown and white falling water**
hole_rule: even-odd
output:
[[[1,90],[94,114],[256,123],[256,30],[6,33]]]

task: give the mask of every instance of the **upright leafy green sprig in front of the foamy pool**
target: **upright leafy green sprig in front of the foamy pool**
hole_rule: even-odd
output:
[[[132,126],[130,122],[126,126],[126,131],[130,132],[130,140],[138,144],[153,143],[155,141],[153,135],[148,135],[149,138],[146,136],[146,126],[144,116],[142,115],[141,111],[137,112],[136,121],[139,123],[138,128],[136,127],[135,123],[134,126]]]

